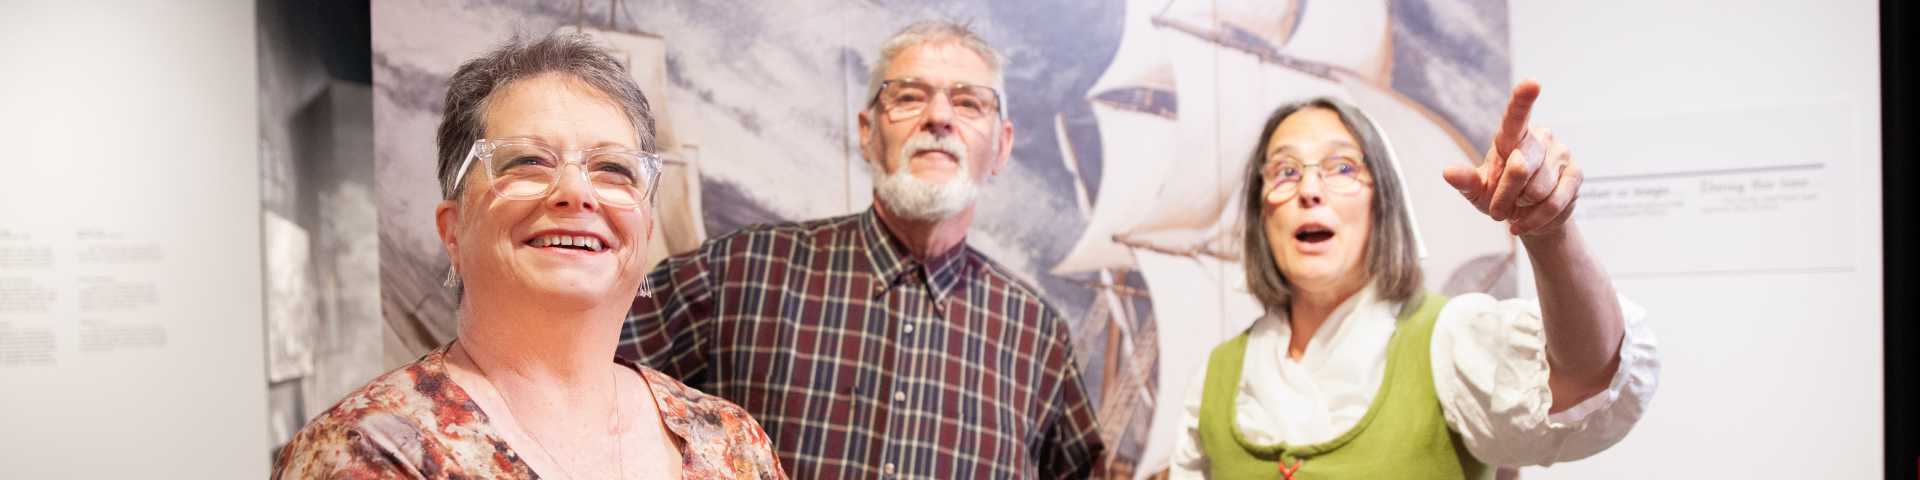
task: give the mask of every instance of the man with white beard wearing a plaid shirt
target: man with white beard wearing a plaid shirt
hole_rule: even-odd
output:
[[[952,23],[887,38],[860,113],[874,207],[666,259],[620,351],[745,407],[793,478],[1087,478],[1066,323],[966,246],[1014,148],[1002,58]]]

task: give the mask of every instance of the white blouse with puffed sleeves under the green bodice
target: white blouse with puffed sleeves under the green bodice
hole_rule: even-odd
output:
[[[1365,288],[1329,315],[1300,361],[1284,313],[1248,330],[1235,426],[1254,444],[1321,444],[1346,434],[1373,403],[1386,376],[1386,349],[1400,301]],[[1494,467],[1553,465],[1592,457],[1626,438],[1659,386],[1661,355],[1645,309],[1620,298],[1626,321],[1620,367],[1605,392],[1548,413],[1546,328],[1538,300],[1465,294],[1440,309],[1432,334],[1434,390],[1448,426]],[[1206,478],[1200,449],[1200,397],[1206,365],[1187,384],[1185,419],[1175,432],[1171,478]]]

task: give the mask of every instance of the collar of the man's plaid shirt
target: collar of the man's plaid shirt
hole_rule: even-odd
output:
[[[954,290],[960,288],[960,280],[966,278],[966,240],[958,246],[947,250],[945,253],[914,259],[900,238],[887,230],[885,221],[879,219],[879,211],[868,207],[860,213],[860,232],[866,238],[866,255],[874,265],[874,278],[879,284],[874,288],[874,296],[885,294],[897,284],[906,282],[927,282],[927,290],[933,292],[933,301],[945,303]]]

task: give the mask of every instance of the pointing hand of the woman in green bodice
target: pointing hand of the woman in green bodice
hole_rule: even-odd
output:
[[[1586,179],[1567,146],[1553,140],[1553,131],[1526,125],[1538,96],[1540,81],[1515,84],[1486,161],[1480,167],[1453,163],[1442,171],[1473,207],[1505,221],[1517,236],[1559,230],[1572,215]]]

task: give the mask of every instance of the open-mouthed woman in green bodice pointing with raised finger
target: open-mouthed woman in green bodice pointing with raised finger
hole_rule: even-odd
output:
[[[1267,119],[1242,215],[1267,313],[1192,376],[1173,478],[1492,478],[1626,436],[1659,349],[1569,219],[1580,167],[1526,125],[1538,94],[1523,81],[1480,167],[1444,173],[1521,238],[1538,301],[1421,290],[1405,188],[1359,109]]]

